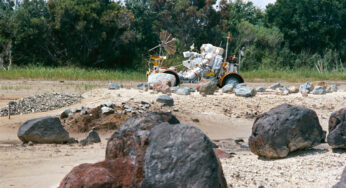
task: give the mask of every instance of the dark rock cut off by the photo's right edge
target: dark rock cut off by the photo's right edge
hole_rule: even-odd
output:
[[[329,118],[327,142],[333,148],[346,148],[346,108],[333,112]]]

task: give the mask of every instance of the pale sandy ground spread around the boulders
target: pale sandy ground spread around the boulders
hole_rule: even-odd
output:
[[[82,102],[72,107],[97,106],[106,101],[116,104],[128,101],[155,101],[160,95],[134,89],[111,91],[105,89],[108,82],[22,82],[24,81],[0,81],[0,107],[9,100],[53,90],[74,94],[85,92]],[[18,87],[3,86],[8,83]],[[134,83],[126,86],[130,87],[131,84]],[[227,146],[222,147],[233,153],[232,158],[222,159],[229,187],[331,187],[339,180],[346,166],[344,150],[332,151],[328,145],[322,144],[312,150],[296,152],[286,159],[265,160],[252,154],[246,147],[246,142],[251,134],[254,118],[282,103],[314,109],[323,129],[327,130],[330,113],[346,107],[346,83],[338,84],[342,90],[340,92],[308,97],[302,97],[300,94],[278,96],[272,93],[259,93],[253,98],[241,98],[221,92],[207,97],[202,97],[198,93],[190,96],[172,94],[175,106],[163,107],[161,110],[172,111],[181,122],[196,125],[213,140],[224,140]],[[269,86],[270,83],[256,82],[248,85]],[[174,108],[178,111],[173,111]],[[58,109],[12,116],[10,120],[0,117],[0,187],[56,187],[73,166],[104,159],[105,139],[113,131],[102,132],[100,144],[86,147],[21,144],[16,134],[22,123],[36,117],[58,115],[62,111],[63,109]],[[81,139],[86,134],[73,133],[71,136]],[[245,143],[240,147],[234,144],[234,139],[243,139]]]

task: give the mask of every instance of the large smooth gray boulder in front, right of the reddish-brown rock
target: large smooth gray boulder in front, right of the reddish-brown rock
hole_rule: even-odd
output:
[[[226,187],[214,145],[200,129],[162,123],[149,140],[141,187]]]

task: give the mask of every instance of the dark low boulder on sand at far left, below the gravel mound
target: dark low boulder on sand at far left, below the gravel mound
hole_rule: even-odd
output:
[[[61,125],[57,117],[36,118],[25,122],[19,127],[18,138],[23,142],[57,143],[69,140],[69,133]]]

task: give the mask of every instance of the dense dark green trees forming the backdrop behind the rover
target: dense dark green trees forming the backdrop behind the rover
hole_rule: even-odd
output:
[[[168,30],[178,39],[170,63],[193,43],[224,47],[230,32],[229,54],[245,49],[243,70],[345,71],[345,0],[277,0],[263,11],[215,2],[0,0],[0,65],[144,70]]]

